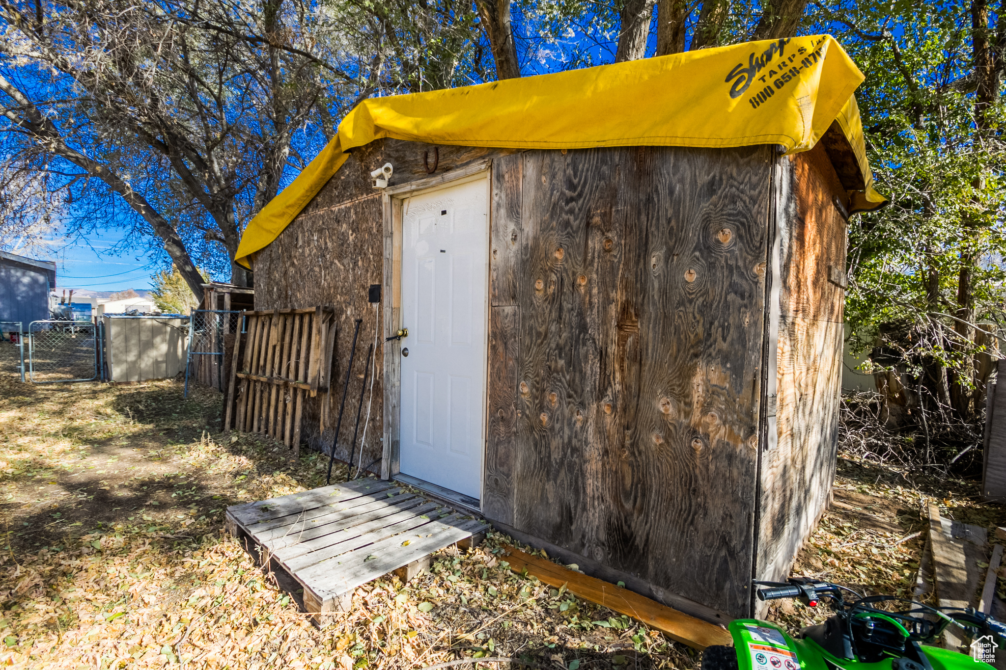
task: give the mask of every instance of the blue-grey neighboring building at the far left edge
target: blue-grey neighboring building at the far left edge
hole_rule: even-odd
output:
[[[31,321],[49,317],[49,291],[56,286],[56,264],[0,251],[0,321]],[[2,326],[3,329],[9,329]]]

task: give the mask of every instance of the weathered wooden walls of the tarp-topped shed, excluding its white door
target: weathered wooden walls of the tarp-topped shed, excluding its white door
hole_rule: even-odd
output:
[[[432,166],[418,143],[358,150],[255,259],[256,308],[337,309],[335,390],[305,412],[315,448],[361,317],[348,445],[367,287],[391,272],[393,212],[367,173],[389,161],[392,184],[426,179],[428,151]],[[439,152],[438,176],[493,162],[483,512],[669,604],[748,615],[752,571],[788,568],[834,471],[842,291],[828,266],[844,271],[845,232],[830,203],[844,191],[823,150]],[[364,464],[381,454],[381,368]]]

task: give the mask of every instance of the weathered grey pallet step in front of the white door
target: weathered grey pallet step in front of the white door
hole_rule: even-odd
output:
[[[470,512],[367,478],[227,508],[226,529],[304,589],[304,606],[347,610],[353,590],[488,527]]]

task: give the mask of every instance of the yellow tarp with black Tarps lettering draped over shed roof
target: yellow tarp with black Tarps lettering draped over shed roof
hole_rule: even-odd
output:
[[[856,204],[876,208],[885,199],[873,190],[852,95],[863,78],[833,37],[813,35],[370,98],[252,220],[236,260],[248,265],[275,240],[347,150],[380,138],[512,149],[775,144],[794,154],[812,149],[837,120],[866,184]]]

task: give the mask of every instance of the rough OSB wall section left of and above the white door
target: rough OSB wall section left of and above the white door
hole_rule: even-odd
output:
[[[362,318],[335,451],[336,458],[348,461],[350,457],[349,445],[367,348],[373,343],[377,323],[374,308],[367,302],[367,290],[370,284],[382,282],[383,272],[381,193],[371,187],[370,171],[391,163],[394,166],[391,184],[399,185],[429,177],[428,166],[431,169],[436,166],[435,174],[443,175],[496,154],[500,152],[468,147],[438,147],[435,150],[420,143],[397,140],[373,142],[355,150],[277,240],[255,255],[256,309],[329,304],[336,310],[337,333],[332,357],[334,385],[328,394],[310,399],[304,411],[301,436],[311,448],[327,452],[332,445],[352,347],[353,321]],[[378,459],[382,453],[382,341],[383,338],[378,337],[376,357],[371,364],[371,375],[375,374],[376,378],[362,458],[364,466],[373,463],[370,469],[374,472],[380,471]],[[360,435],[369,396],[368,382],[363,397]],[[324,430],[321,426],[323,415]],[[354,462],[360,460],[360,435],[356,438]]]

